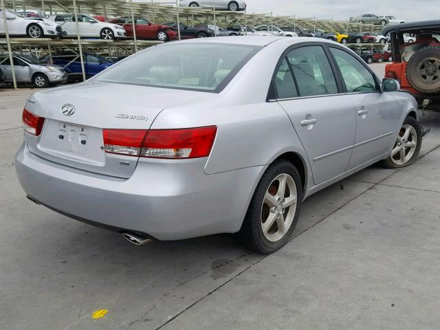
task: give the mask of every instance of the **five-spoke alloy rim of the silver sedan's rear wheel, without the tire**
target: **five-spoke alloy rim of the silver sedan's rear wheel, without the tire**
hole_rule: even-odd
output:
[[[291,227],[296,211],[296,184],[294,178],[282,173],[265,192],[261,206],[261,230],[270,242],[283,239]]]

